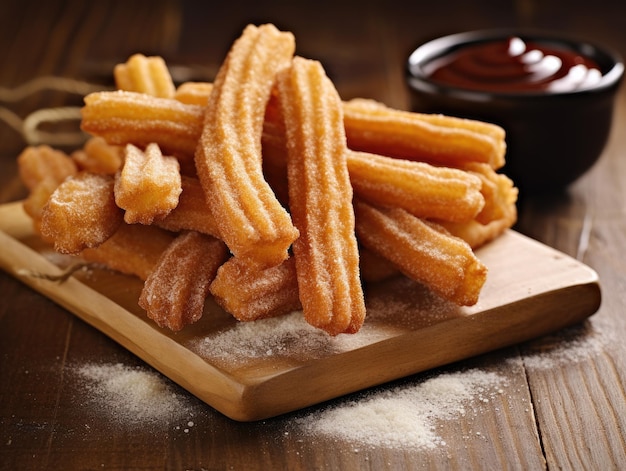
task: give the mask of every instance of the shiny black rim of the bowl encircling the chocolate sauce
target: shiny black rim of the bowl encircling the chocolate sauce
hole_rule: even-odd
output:
[[[474,90],[431,80],[423,70],[423,64],[435,57],[441,56],[443,53],[450,51],[451,49],[463,47],[464,45],[478,44],[481,42],[507,39],[511,37],[519,37],[523,40],[532,40],[534,42],[558,43],[574,48],[577,51],[581,51],[583,54],[591,55],[591,57],[601,55],[605,59],[609,59],[611,65],[606,73],[602,74],[600,81],[593,86],[566,91],[529,90],[506,92]],[[409,54],[406,62],[406,74],[409,86],[414,90],[430,93],[444,93],[475,101],[487,101],[495,97],[564,97],[568,95],[589,95],[610,89],[612,87],[617,87],[624,75],[624,61],[622,56],[617,51],[586,39],[576,38],[574,36],[564,34],[557,35],[552,32],[537,29],[495,28],[448,34],[420,44]]]

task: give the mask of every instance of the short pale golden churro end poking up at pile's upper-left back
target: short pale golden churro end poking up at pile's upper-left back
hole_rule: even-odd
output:
[[[147,93],[161,98],[172,98],[176,87],[162,57],[133,54],[124,64],[113,69],[119,90]]]

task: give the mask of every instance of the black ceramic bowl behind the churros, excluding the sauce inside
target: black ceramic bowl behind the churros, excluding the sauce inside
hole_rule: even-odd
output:
[[[511,37],[588,57],[597,63],[602,77],[580,90],[520,92],[471,90],[429,76],[429,64],[438,58],[468,45]],[[619,55],[594,44],[536,32],[486,30],[445,36],[418,47],[408,60],[407,81],[414,111],[502,126],[507,136],[504,172],[523,192],[546,192],[563,190],[600,157],[623,71]]]

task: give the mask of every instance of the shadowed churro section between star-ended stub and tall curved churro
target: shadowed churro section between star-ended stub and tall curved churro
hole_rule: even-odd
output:
[[[217,223],[198,179],[183,175],[181,188],[178,206],[155,224],[173,232],[191,230],[219,238]]]

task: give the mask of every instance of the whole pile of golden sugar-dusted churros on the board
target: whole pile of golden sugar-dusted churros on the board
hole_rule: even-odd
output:
[[[391,276],[478,301],[474,250],[517,217],[501,128],[342,101],[271,24],[243,30],[213,83],[175,86],[141,54],[113,75],[85,97],[82,148],[18,157],[24,209],[57,251],[144,280],[160,327],[213,296],[241,321],[301,311],[355,333],[368,284]]]

